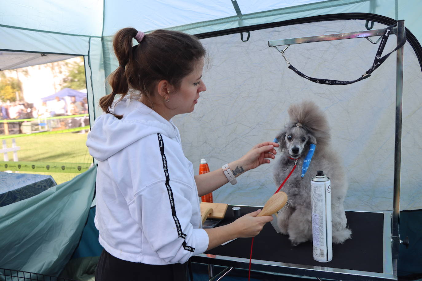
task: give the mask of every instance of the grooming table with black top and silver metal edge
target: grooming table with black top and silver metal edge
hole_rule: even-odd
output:
[[[234,206],[228,206],[220,225],[236,219],[232,212]],[[240,207],[241,216],[262,209]],[[254,238],[251,269],[342,281],[397,280],[392,269],[391,214],[392,211],[346,211],[352,239],[344,244],[333,244],[333,260],[330,262],[313,259],[311,241],[291,246],[287,235],[276,233],[267,223]],[[248,269],[251,242],[252,238],[235,239],[192,257],[192,262],[226,266],[226,271],[230,271],[230,267]]]

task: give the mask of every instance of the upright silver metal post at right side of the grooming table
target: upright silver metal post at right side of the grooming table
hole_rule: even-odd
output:
[[[404,20],[397,21],[397,42],[403,40]],[[397,275],[397,260],[399,245],[399,215],[400,215],[400,166],[401,166],[401,125],[403,102],[403,50],[404,45],[397,50],[396,67],[396,109],[395,109],[395,147],[394,147],[394,194],[391,224],[393,272]]]

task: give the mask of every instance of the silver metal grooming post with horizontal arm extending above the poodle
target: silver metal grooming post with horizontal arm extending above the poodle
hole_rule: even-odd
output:
[[[394,27],[391,34],[397,35],[397,42],[401,42],[405,37],[404,20],[397,21],[397,27]],[[353,38],[366,38],[371,43],[373,42],[370,38],[372,36],[381,36],[385,32],[385,29],[365,30],[358,32],[346,32],[336,33],[329,35],[319,35],[310,37],[299,37],[290,39],[280,40],[269,40],[268,46],[274,47],[279,51],[286,63],[289,65],[284,51],[287,50],[289,45],[321,42],[330,40],[342,40],[342,39],[353,39]],[[283,50],[278,46],[287,45]],[[399,254],[399,245],[403,243],[399,236],[399,214],[400,214],[400,166],[401,166],[401,126],[402,126],[402,101],[403,101],[403,50],[404,45],[397,50],[397,62],[396,62],[396,110],[395,110],[395,147],[394,147],[394,195],[393,195],[393,212],[392,212],[392,223],[391,223],[391,242],[392,242],[392,266],[393,272],[397,275],[397,261]]]

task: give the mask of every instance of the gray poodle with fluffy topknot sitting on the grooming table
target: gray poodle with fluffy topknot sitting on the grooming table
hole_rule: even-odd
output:
[[[279,214],[277,223],[281,234],[289,235],[292,245],[312,241],[311,177],[318,170],[324,171],[331,180],[331,210],[333,243],[343,243],[352,231],[346,227],[344,198],[347,181],[341,159],[330,147],[330,133],[323,112],[312,102],[292,104],[289,109],[290,122],[277,136],[281,156],[274,165],[274,180],[277,185],[286,179],[298,158],[298,166],[281,188],[287,193],[291,206]],[[316,145],[308,171],[301,178],[303,159],[309,145]]]

